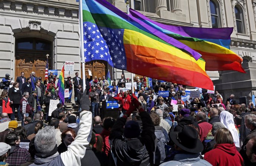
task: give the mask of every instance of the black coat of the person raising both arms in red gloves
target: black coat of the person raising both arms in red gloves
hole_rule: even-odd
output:
[[[124,139],[122,137],[126,122],[124,117],[117,119],[112,127],[109,140],[112,143],[112,153],[117,158],[117,165],[150,165],[156,146],[155,127],[147,112],[141,112],[140,116],[142,133],[139,138]]]

